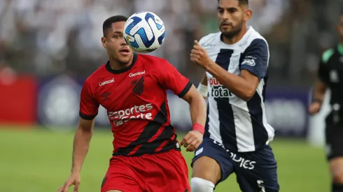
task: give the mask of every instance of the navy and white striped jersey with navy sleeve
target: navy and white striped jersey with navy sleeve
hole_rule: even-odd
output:
[[[204,36],[200,44],[211,60],[228,73],[240,75],[241,69],[245,69],[260,80],[254,96],[246,102],[207,73],[209,102],[204,138],[212,138],[232,152],[253,152],[264,147],[274,138],[264,103],[269,63],[267,41],[249,27],[235,44],[223,43],[221,32]]]

